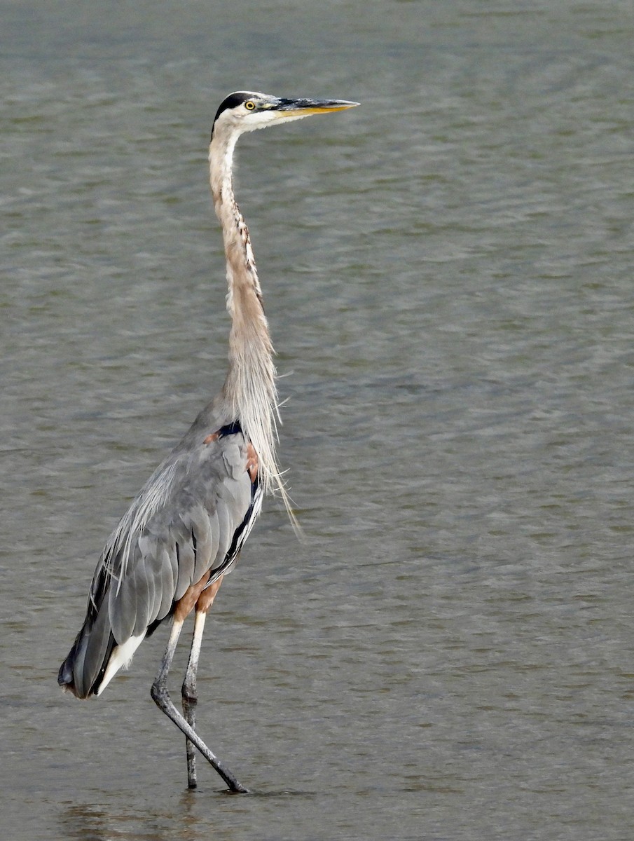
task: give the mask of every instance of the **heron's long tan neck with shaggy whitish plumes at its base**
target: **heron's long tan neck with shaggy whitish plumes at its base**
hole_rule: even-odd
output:
[[[220,134],[209,145],[209,183],[222,226],[227,260],[227,309],[231,316],[229,372],[223,395],[231,416],[256,449],[265,489],[285,494],[275,455],[277,389],[273,348],[262,307],[262,289],[246,222],[235,202],[231,165],[235,136]]]

